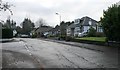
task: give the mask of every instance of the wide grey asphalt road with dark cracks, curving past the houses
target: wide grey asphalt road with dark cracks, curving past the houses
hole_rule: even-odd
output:
[[[2,43],[3,68],[117,68],[117,65],[117,52],[30,38]]]

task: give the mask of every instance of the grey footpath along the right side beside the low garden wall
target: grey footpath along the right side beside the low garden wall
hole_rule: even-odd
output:
[[[109,46],[100,46],[100,45],[93,45],[93,44],[86,44],[86,43],[78,43],[78,42],[70,42],[70,41],[61,41],[61,40],[53,40],[53,39],[42,39],[45,41],[57,42],[61,44],[76,46],[80,48],[86,48],[94,51],[99,52],[118,52],[117,47],[109,47]]]

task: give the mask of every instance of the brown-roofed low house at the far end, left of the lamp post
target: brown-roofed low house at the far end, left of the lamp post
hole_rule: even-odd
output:
[[[41,26],[35,29],[35,33],[37,34],[37,37],[42,37],[45,33],[47,33],[51,29],[52,27],[50,26]]]

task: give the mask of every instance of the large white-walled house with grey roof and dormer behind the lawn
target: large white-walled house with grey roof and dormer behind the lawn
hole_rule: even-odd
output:
[[[93,27],[95,30],[100,29],[98,22],[88,16],[75,19],[74,23],[67,27],[67,36],[78,36],[79,33],[86,33],[90,27]],[[97,31],[102,32],[102,30]]]

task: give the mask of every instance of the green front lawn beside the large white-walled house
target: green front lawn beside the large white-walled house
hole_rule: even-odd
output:
[[[82,38],[76,38],[76,39],[105,42],[106,37],[82,37]]]

